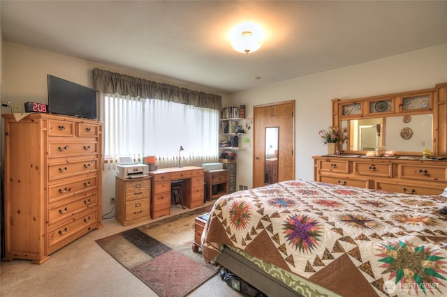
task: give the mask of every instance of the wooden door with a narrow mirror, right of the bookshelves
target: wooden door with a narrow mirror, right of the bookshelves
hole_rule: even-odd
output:
[[[258,105],[253,108],[253,188],[272,183],[272,181],[288,181],[295,178],[295,121],[293,117],[295,101]],[[272,128],[278,137],[276,147],[274,147],[275,144],[266,142],[266,131],[269,132]],[[273,152],[270,152],[270,148]],[[277,167],[277,172],[273,174],[272,166]]]

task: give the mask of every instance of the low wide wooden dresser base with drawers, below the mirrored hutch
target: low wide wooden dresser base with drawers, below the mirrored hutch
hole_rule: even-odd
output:
[[[414,195],[440,195],[447,160],[315,156],[316,181]]]

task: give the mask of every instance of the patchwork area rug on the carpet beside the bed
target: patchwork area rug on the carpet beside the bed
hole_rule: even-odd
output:
[[[194,218],[211,206],[98,239],[96,243],[159,296],[186,296],[219,270],[193,252]]]

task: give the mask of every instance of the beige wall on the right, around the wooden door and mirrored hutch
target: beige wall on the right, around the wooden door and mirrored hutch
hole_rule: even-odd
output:
[[[318,130],[331,125],[332,98],[426,89],[441,82],[447,82],[447,44],[233,93],[230,102],[247,105],[247,116],[253,116],[254,105],[295,100],[295,178],[313,180],[312,155],[327,153]],[[245,136],[252,140],[252,132]],[[237,153],[237,185],[251,187],[252,153],[251,147]]]

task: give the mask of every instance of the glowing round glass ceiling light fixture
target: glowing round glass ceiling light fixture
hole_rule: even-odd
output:
[[[231,46],[235,51],[249,54],[263,45],[265,33],[261,26],[254,23],[238,24],[230,32]]]

